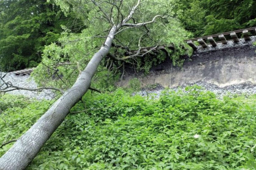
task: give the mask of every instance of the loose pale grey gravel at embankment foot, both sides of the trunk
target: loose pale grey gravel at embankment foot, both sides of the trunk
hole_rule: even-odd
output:
[[[2,76],[5,75],[5,73],[2,73]],[[30,78],[30,75],[20,76],[15,75],[14,73],[7,73],[7,75],[3,78],[5,82],[11,82],[14,86],[18,87],[24,87],[24,88],[30,88],[34,89],[37,88],[37,84],[33,80],[33,78]],[[3,84],[3,81],[0,82],[0,84]],[[182,90],[183,92],[186,92],[185,87],[187,86],[193,86],[198,85],[203,87],[202,90],[208,90],[212,91],[216,94],[216,96],[220,99],[223,98],[225,95],[233,95],[233,94],[245,94],[245,95],[251,95],[256,94],[256,84],[252,84],[251,82],[241,83],[241,84],[234,84],[230,86],[226,86],[223,88],[220,88],[212,83],[206,83],[206,82],[197,82],[193,84],[184,84],[180,87],[173,87],[169,88],[169,90]],[[136,94],[139,94],[141,96],[150,96],[151,94],[155,94],[156,97],[159,97],[161,92],[165,88],[157,85],[155,88],[144,88],[137,92]],[[34,98],[37,100],[47,99],[51,100],[55,97],[55,93],[52,90],[44,89],[41,92],[37,91],[28,91],[28,90],[13,90],[7,92],[8,94],[14,94],[14,95],[24,95],[29,98]]]

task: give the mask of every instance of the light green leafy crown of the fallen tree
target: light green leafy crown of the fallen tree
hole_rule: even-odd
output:
[[[103,10],[112,14],[109,17],[113,18],[113,23],[119,22],[128,14],[130,11],[128,7],[132,6],[134,1],[116,1],[116,5],[119,3],[122,3],[120,10],[123,16],[118,15],[118,8],[112,8],[112,4],[101,3]],[[81,33],[73,33],[65,28],[58,43],[45,47],[42,63],[33,74],[37,82],[44,85],[58,70],[58,75],[63,76],[62,80],[50,83],[54,83],[52,86],[65,89],[73,84],[81,68],[84,68],[91,59],[95,49],[100,48],[105,41],[111,23],[104,17],[104,14],[102,16],[102,12],[99,12],[98,7],[93,3],[56,1],[56,4],[60,5],[66,14],[69,11],[76,12],[87,27]],[[183,40],[187,39],[190,33],[183,29],[179,20],[174,17],[174,4],[173,0],[170,3],[145,1],[140,5],[140,10],[134,13],[133,20],[129,21],[129,24],[151,21],[156,15],[163,17],[156,18],[154,24],[136,29],[130,29],[130,26],[127,26],[116,33],[110,49],[112,55],[105,58],[98,67],[98,72],[94,77],[95,82],[92,82],[94,87],[110,87],[110,84],[116,80],[115,78],[121,76],[122,73],[119,70],[123,68],[123,65],[147,73],[151,66],[163,62],[166,57],[171,58],[174,64],[182,64],[183,59],[180,56],[187,54],[187,49],[189,49]],[[80,11],[80,9],[87,12]],[[158,47],[163,45],[165,46],[159,50]],[[147,47],[151,48],[146,49]],[[66,64],[59,64],[65,62]]]

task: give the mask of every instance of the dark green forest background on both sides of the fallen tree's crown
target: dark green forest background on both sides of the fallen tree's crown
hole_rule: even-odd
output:
[[[172,0],[170,14],[179,23],[174,29],[185,29],[184,38],[206,36],[256,26],[254,0]],[[62,32],[81,34],[85,25],[81,11],[64,14],[53,1],[0,1],[0,65],[3,71],[37,66],[45,46],[57,43]],[[65,27],[65,29],[63,28]],[[180,28],[175,28],[180,27]],[[183,34],[181,33],[181,36]],[[182,43],[180,37],[179,43]]]

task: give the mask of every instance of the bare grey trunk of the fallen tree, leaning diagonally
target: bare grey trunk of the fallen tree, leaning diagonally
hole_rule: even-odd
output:
[[[104,45],[94,54],[74,85],[60,97],[38,121],[23,134],[1,158],[0,170],[23,170],[65,119],[69,110],[83,97],[101,60],[109,53],[117,26],[114,25]]]

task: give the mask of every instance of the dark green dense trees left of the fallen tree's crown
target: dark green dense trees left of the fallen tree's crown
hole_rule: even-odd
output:
[[[0,1],[1,69],[12,71],[37,66],[44,46],[57,42],[61,25],[73,19],[72,15],[65,16],[52,1]]]

